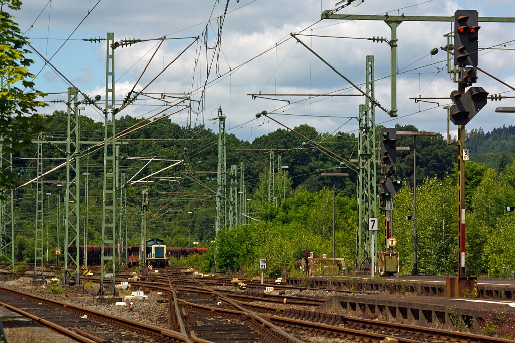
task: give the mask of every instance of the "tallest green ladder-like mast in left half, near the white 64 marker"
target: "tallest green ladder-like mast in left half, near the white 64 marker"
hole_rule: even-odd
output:
[[[102,255],[100,258],[100,288],[98,295],[115,295],[115,264],[114,244],[116,240],[116,157],[115,157],[115,114],[114,103],[114,34],[108,32],[106,48],[106,107],[104,109],[104,186],[102,190]],[[109,114],[111,113],[111,120]],[[105,247],[110,246],[112,255],[107,256]],[[111,261],[113,266],[113,279],[111,285],[104,284],[106,261]]]

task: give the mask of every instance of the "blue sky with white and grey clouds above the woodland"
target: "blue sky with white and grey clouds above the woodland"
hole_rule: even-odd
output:
[[[166,103],[161,93],[191,93],[191,106],[171,118],[184,125],[205,123],[217,131],[209,119],[221,106],[228,117],[227,127],[237,137],[252,140],[279,127],[268,119],[256,120],[262,110],[276,113],[275,119],[287,126],[302,123],[320,132],[335,130],[353,132],[357,125],[362,96],[276,96],[278,100],[252,99],[249,93],[280,94],[358,94],[345,79],[313,56],[304,46],[290,38],[290,32],[301,32],[299,38],[356,85],[365,81],[365,58],[375,60],[375,95],[383,107],[390,108],[390,47],[387,43],[351,38],[390,38],[383,21],[320,20],[322,10],[335,7],[335,0],[24,0],[22,9],[12,13],[20,29],[26,32],[37,51],[47,58],[75,86],[90,96],[105,92],[106,42],[81,39],[106,37],[114,32],[122,39],[148,40],[115,50],[116,101],[121,103],[141,75],[147,62],[166,36],[135,90],[141,90],[174,60],[188,44],[199,37],[145,92],[157,93],[139,97],[120,115],[149,116],[163,110]],[[227,5],[227,14],[224,12]],[[480,16],[515,17],[513,0],[365,0],[357,7],[348,6],[341,14],[445,15],[459,8],[476,9]],[[89,14],[88,14],[89,13]],[[80,25],[79,25],[80,24]],[[480,23],[479,47],[497,44],[502,50],[486,49],[479,54],[479,67],[515,85],[515,30],[512,23]],[[220,29],[221,26],[221,29]],[[75,30],[75,31],[74,31]],[[452,30],[447,22],[404,22],[398,29],[398,114],[393,121],[376,109],[376,123],[385,126],[413,124],[422,130],[444,134],[450,100],[416,104],[410,97],[448,97],[457,89],[445,66],[445,54],[429,54],[433,47],[447,44],[443,35]],[[221,31],[221,36],[220,36]],[[73,33],[73,34],[72,34]],[[328,38],[315,36],[335,36]],[[70,37],[69,40],[66,40]],[[48,39],[47,39],[48,38]],[[504,43],[506,46],[504,46]],[[64,44],[64,45],[63,45]],[[36,64],[37,89],[65,92],[68,83],[42,60]],[[209,71],[209,76],[208,76]],[[207,83],[206,83],[207,82]],[[205,85],[205,88],[204,88]],[[514,96],[510,88],[478,73],[477,86],[490,94]],[[205,93],[203,93],[205,90]],[[202,95],[204,94],[204,95]],[[173,95],[175,96],[175,95]],[[274,96],[266,96],[273,98]],[[65,99],[65,94],[50,94],[46,100]],[[103,98],[102,98],[103,99]],[[173,98],[166,99],[173,101]],[[289,104],[288,102],[289,101]],[[103,107],[102,103],[102,107]],[[489,101],[467,129],[482,127],[485,131],[512,125],[515,114],[495,113],[497,106],[515,106],[513,99]],[[52,104],[50,113],[63,109]],[[170,112],[167,111],[166,113]],[[92,106],[81,112],[95,120],[101,116]],[[344,118],[339,118],[344,117]],[[347,118],[345,118],[347,117]],[[451,127],[455,132],[454,127]]]

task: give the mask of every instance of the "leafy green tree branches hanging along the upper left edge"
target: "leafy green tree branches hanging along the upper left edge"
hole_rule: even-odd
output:
[[[34,89],[35,76],[28,70],[34,62],[27,58],[28,42],[4,5],[19,10],[21,1],[0,2],[0,135],[4,140],[4,153],[9,154],[27,150],[32,138],[43,131],[44,120],[38,109],[46,104],[38,100],[44,94]],[[24,92],[27,88],[30,91]],[[0,191],[11,190],[16,185],[15,172],[0,171]]]

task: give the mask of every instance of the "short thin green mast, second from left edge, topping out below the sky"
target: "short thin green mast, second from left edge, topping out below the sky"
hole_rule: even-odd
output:
[[[38,145],[38,176],[43,174],[43,141],[39,140]],[[43,177],[38,177],[36,183],[36,244],[34,247],[34,276],[32,280],[45,280],[43,275]]]

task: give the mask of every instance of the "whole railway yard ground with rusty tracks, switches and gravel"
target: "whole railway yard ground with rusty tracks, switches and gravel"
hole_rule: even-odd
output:
[[[52,279],[53,272],[45,274]],[[503,289],[515,287],[508,280],[483,280],[478,287],[489,285],[493,293],[457,299],[415,292],[436,287],[437,277],[396,277],[394,282],[346,277],[336,289],[317,288],[317,282],[291,285],[298,283],[295,278],[262,285],[167,268],[138,280],[132,273],[117,274],[117,284],[130,278],[130,290],[99,300],[98,272],[82,277],[84,293],[51,293],[49,284],[31,286],[31,276],[2,275],[0,305],[8,342],[24,341],[14,338],[20,335],[40,342],[508,342],[482,335],[481,328],[488,313],[513,312],[515,306],[499,299],[501,292],[509,294]],[[396,282],[405,286],[391,287]],[[363,286],[368,283],[372,286]],[[383,290],[373,290],[379,283]],[[323,285],[321,279],[318,284]],[[351,289],[356,285],[363,290]],[[124,297],[134,291],[142,293]]]

